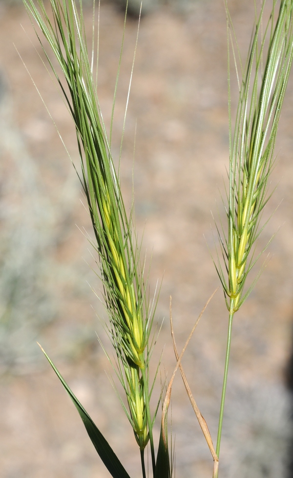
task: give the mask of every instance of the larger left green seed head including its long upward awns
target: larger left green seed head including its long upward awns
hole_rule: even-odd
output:
[[[117,356],[116,373],[126,392],[128,409],[121,400],[122,405],[142,452],[150,441],[154,468],[154,419],[149,408],[152,387],[148,379],[151,352],[148,343],[153,313],[146,296],[132,211],[127,216],[99,108],[96,82],[88,59],[82,2],[78,9],[74,0],[50,0],[53,21],[42,0],[24,0],[24,3],[65,77],[66,88],[43,48],[76,127],[82,167],[80,179],[95,233],[93,245],[100,258],[110,321],[108,330]]]

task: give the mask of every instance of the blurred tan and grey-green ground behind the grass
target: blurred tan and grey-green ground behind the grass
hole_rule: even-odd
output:
[[[271,4],[271,2],[268,2]],[[245,57],[253,1],[230,0]],[[123,31],[123,0],[101,5],[99,96],[109,124]],[[113,155],[119,157],[138,1],[130,0],[117,95]],[[91,2],[84,1],[89,28]],[[140,476],[135,439],[108,376],[107,320],[81,186],[75,131],[21,1],[0,0],[0,469],[3,478],[106,478],[62,385],[37,341],[122,459]],[[41,56],[41,58],[40,58]],[[25,67],[23,65],[25,64]],[[27,70],[30,75],[28,74]],[[237,103],[232,76],[232,109]],[[224,218],[229,159],[226,15],[218,0],[145,0],[128,107],[121,181],[143,237],[149,284],[162,287],[154,353],[161,373],[175,359],[169,296],[178,349],[219,281],[209,254],[213,219]],[[260,246],[276,232],[261,279],[234,319],[221,449],[221,477],[290,478],[293,393],[293,78],[276,145],[277,162]],[[220,191],[220,192],[219,192]],[[217,212],[219,211],[219,212]],[[265,256],[267,252],[265,253]],[[228,314],[219,289],[183,365],[214,442]],[[110,349],[108,349],[110,351]],[[110,352],[111,353],[111,352]],[[158,395],[160,383],[154,395]],[[155,399],[153,400],[155,406]],[[172,433],[177,477],[210,478],[212,459],[178,375]],[[158,430],[156,431],[158,434]],[[292,465],[292,463],[291,463]]]

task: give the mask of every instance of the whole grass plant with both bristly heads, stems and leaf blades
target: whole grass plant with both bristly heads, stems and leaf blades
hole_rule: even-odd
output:
[[[256,252],[256,244],[265,227],[261,218],[270,198],[268,182],[274,164],[274,145],[293,59],[293,0],[272,0],[267,23],[263,20],[267,13],[267,2],[254,0],[254,27],[245,64],[241,61],[226,2],[230,165],[227,201],[223,200],[227,223],[220,222],[217,225],[221,251],[218,251],[215,265],[229,311],[229,330],[217,444],[214,448],[208,425],[194,401],[181,364],[188,341],[179,354],[171,321],[177,364],[162,400],[161,435],[157,454],[153,427],[161,397],[157,397],[156,406],[151,411],[153,382],[149,376],[155,307],[154,301],[150,301],[148,297],[147,280],[144,278],[145,261],[140,257],[141,246],[134,229],[133,209],[127,214],[120,189],[119,169],[118,171],[115,169],[111,153],[116,93],[110,131],[107,132],[97,94],[98,52],[94,48],[97,38],[93,25],[92,51],[89,51],[84,30],[82,1],[50,0],[50,9],[42,0],[23,1],[36,25],[36,34],[75,125],[81,159],[80,180],[94,230],[95,240],[92,245],[100,259],[100,276],[109,316],[108,333],[116,353],[113,367],[125,392],[127,405],[123,397],[121,403],[140,450],[142,476],[146,478],[145,449],[148,444],[153,477],[169,478],[174,471],[167,441],[167,410],[172,382],[179,368],[214,461],[213,478],[218,478],[232,322],[235,312],[243,305],[259,276],[258,274],[256,279],[247,285],[251,269],[261,255]],[[53,52],[54,61],[47,47]],[[235,123],[231,113],[230,51],[234,58],[239,85]],[[58,67],[55,66],[55,60]],[[124,132],[122,138],[123,135]],[[196,325],[197,323],[192,333]],[[46,357],[48,358],[47,355]],[[55,365],[49,358],[48,360],[77,407],[86,430],[112,477],[128,477],[104,436]],[[154,366],[155,377],[158,366],[158,363]]]

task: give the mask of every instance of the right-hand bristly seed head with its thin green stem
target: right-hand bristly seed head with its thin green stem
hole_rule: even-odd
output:
[[[229,331],[225,371],[220,406],[216,453],[219,456],[227,387],[233,316],[249,296],[257,278],[247,290],[247,276],[260,254],[255,257],[256,241],[264,228],[260,226],[263,209],[270,198],[268,179],[274,163],[274,145],[280,119],[281,107],[288,83],[293,59],[293,0],[273,0],[271,16],[263,28],[263,13],[266,1],[260,3],[245,67],[239,84],[239,102],[234,134],[231,126],[230,66],[229,124],[230,124],[230,169],[229,194],[226,208],[228,235],[223,227],[217,227],[225,266],[218,256],[216,265],[227,308]],[[230,38],[233,45],[234,30],[227,8],[228,56]],[[279,10],[278,10],[279,9]],[[278,11],[277,11],[278,10]],[[262,33],[264,31],[264,33]],[[236,48],[237,48],[237,41]],[[233,50],[235,56],[235,52]],[[229,59],[230,63],[230,59]],[[237,66],[236,66],[237,68]],[[237,72],[238,76],[238,72]],[[259,86],[260,83],[260,86]],[[228,280],[226,272],[228,272]],[[214,470],[213,478],[218,477]]]

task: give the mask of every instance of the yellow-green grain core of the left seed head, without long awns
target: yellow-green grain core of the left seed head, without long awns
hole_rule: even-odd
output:
[[[112,191],[114,193],[114,191]],[[145,349],[148,341],[147,320],[144,319],[144,302],[141,285],[136,282],[138,271],[132,270],[127,262],[127,251],[117,227],[117,206],[113,207],[111,196],[106,190],[102,199],[103,251],[106,301],[111,311],[110,331],[116,350],[120,379],[126,391],[129,407],[127,416],[132,424],[136,441],[144,450],[149,439],[145,382],[143,373],[148,366]],[[132,250],[132,249],[131,249]],[[128,258],[129,259],[129,258]],[[147,353],[147,352],[146,352]]]

